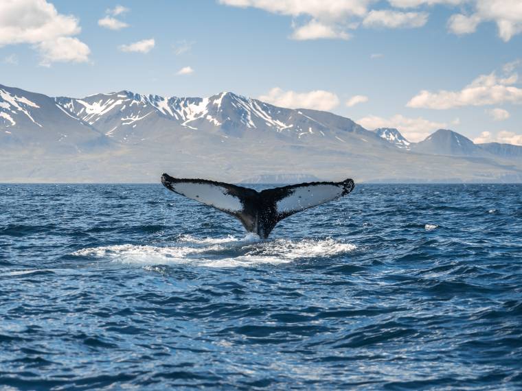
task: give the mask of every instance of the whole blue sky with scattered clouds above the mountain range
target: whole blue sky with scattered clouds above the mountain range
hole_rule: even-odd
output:
[[[221,91],[522,145],[521,0],[0,0],[0,84]]]

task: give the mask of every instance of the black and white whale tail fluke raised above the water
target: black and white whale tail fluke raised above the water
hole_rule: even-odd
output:
[[[341,198],[354,189],[351,179],[342,182],[308,182],[256,191],[247,187],[205,179],[161,176],[170,191],[237,217],[247,231],[263,239],[285,217]]]

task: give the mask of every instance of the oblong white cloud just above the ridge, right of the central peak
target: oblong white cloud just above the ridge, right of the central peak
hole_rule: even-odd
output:
[[[268,94],[259,97],[263,102],[288,108],[312,108],[314,110],[332,110],[339,105],[339,97],[323,90],[297,93],[283,91],[279,87],[272,88]]]

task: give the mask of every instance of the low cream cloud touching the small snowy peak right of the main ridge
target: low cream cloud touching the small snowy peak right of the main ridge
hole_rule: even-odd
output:
[[[382,118],[370,115],[356,121],[364,128],[397,128],[409,141],[414,143],[426,139],[435,130],[447,128],[447,123],[429,121],[422,117],[408,118],[403,115],[394,115],[391,118]]]

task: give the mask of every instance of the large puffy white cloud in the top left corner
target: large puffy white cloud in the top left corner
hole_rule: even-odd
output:
[[[78,38],[78,19],[59,14],[46,0],[0,1],[0,47],[27,43],[41,54],[41,63],[87,62],[89,47]]]

